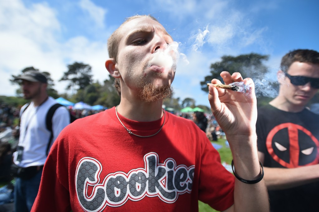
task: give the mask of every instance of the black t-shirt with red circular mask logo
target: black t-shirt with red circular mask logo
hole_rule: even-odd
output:
[[[258,151],[263,165],[296,168],[319,162],[319,115],[304,109],[281,111],[271,105],[258,109],[256,123]],[[319,211],[319,183],[269,191],[271,211]]]

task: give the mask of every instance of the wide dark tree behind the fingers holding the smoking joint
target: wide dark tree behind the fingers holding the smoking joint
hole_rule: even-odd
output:
[[[230,74],[240,72],[243,78],[258,78],[268,72],[267,66],[263,65],[263,61],[267,61],[268,55],[260,55],[257,53],[243,54],[237,57],[223,56],[220,62],[211,64],[211,74],[205,76],[204,81],[201,81],[202,90],[208,92],[207,83],[212,79],[219,79],[222,83],[220,73],[227,71]]]

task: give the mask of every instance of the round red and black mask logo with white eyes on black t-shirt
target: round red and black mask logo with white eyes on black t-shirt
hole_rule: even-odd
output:
[[[280,165],[296,168],[318,164],[319,142],[306,128],[283,123],[274,127],[268,134],[266,148]]]

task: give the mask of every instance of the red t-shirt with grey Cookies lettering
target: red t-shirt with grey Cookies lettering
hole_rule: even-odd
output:
[[[51,148],[32,211],[221,211],[234,204],[234,176],[191,120],[166,113],[162,130],[130,135],[115,108],[76,120]],[[152,135],[157,121],[123,124]]]

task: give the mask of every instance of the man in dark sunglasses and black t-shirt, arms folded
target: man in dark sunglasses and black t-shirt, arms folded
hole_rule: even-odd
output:
[[[256,124],[271,211],[318,211],[319,115],[306,105],[319,89],[319,53],[287,53],[277,76],[279,94]]]

